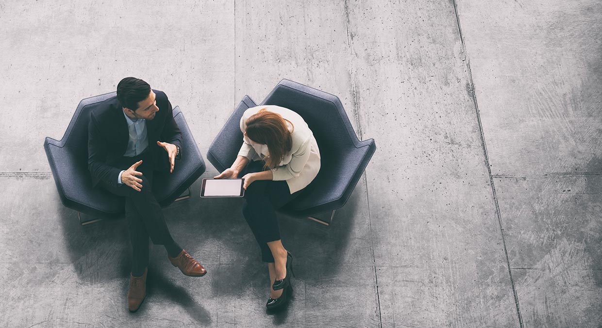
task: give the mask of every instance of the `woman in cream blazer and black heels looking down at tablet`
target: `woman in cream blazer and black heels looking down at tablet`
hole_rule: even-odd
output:
[[[275,210],[314,180],[320,171],[320,150],[303,118],[284,107],[247,109],[240,130],[243,145],[237,159],[216,178],[243,175],[243,215],[268,263],[271,288],[265,306],[272,310],[284,306],[293,290],[293,257],[282,245]]]

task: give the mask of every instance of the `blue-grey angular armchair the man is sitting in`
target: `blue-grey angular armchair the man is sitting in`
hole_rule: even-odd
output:
[[[117,197],[99,186],[92,188],[92,178],[88,171],[88,121],[90,111],[116,92],[83,99],[67,127],[61,140],[46,137],[44,150],[52,176],[57,184],[58,195],[63,205],[78,211],[81,224],[92,223],[101,218],[121,215],[125,212],[123,198]],[[161,206],[190,197],[190,186],[205,172],[205,161],[184,114],[179,107],[173,109],[173,117],[182,131],[182,158],[176,163],[172,174],[156,174],[153,192]],[[188,189],[188,195],[181,196]],[[79,213],[93,219],[83,219]]]

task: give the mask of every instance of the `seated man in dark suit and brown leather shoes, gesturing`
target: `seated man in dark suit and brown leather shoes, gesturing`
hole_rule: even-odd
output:
[[[152,194],[155,171],[173,172],[182,149],[182,133],[173,119],[165,93],[138,78],[117,84],[117,96],[90,114],[88,169],[93,185],[125,197],[132,243],[129,311],[146,296],[149,237],[164,245],[167,256],[187,276],[200,277],[205,268],[179,247],[167,229],[161,206]]]

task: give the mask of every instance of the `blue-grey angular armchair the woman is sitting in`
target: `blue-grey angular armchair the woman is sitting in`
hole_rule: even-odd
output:
[[[282,106],[299,113],[320,147],[318,176],[281,210],[330,224],[335,210],[347,202],[370,162],[376,150],[374,139],[358,139],[337,96],[300,83],[280,81],[261,105]],[[240,118],[246,109],[255,106],[249,96],[244,96],[209,147],[207,159],[218,171],[222,172],[234,163],[243,140]]]

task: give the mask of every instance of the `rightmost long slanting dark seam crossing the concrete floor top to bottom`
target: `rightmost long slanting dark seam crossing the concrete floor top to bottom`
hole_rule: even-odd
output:
[[[498,221],[498,225],[500,227],[501,242],[502,242],[502,245],[504,248],[504,255],[506,256],[506,265],[508,268],[508,275],[510,277],[510,286],[512,286],[512,294],[514,294],[514,303],[515,303],[515,306],[517,309],[518,324],[520,325],[521,328],[523,328],[524,327],[523,317],[521,316],[520,305],[518,303],[517,289],[514,284],[514,278],[512,277],[512,268],[510,266],[510,259],[508,257],[508,250],[506,247],[506,239],[504,238],[504,229],[503,229],[503,225],[502,225],[502,221],[501,221],[500,204],[498,203],[498,200],[497,200],[497,193],[495,192],[495,184],[494,184],[493,176],[491,174],[491,164],[489,163],[489,153],[487,151],[487,145],[485,142],[485,132],[483,131],[483,124],[481,122],[479,104],[477,103],[477,95],[476,95],[476,92],[474,92],[473,74],[470,69],[470,60],[468,59],[467,54],[466,54],[466,45],[464,44],[464,36],[462,35],[462,27],[460,25],[460,16],[458,14],[458,5],[456,4],[456,0],[452,0],[452,4],[453,4],[454,13],[456,15],[456,24],[458,24],[458,33],[459,33],[459,37],[460,37],[460,42],[462,43],[461,51],[463,52],[463,55],[465,56],[465,62],[466,62],[466,67],[467,67],[467,71],[468,71],[468,82],[470,83],[470,93],[471,93],[471,98],[473,98],[474,109],[476,110],[477,122],[479,124],[481,145],[483,147],[483,154],[485,154],[485,166],[487,167],[487,172],[489,175],[489,184],[491,184],[491,192],[492,192],[492,196],[493,196],[493,200],[494,200],[494,204],[495,204],[495,214],[497,215],[497,221]]]

